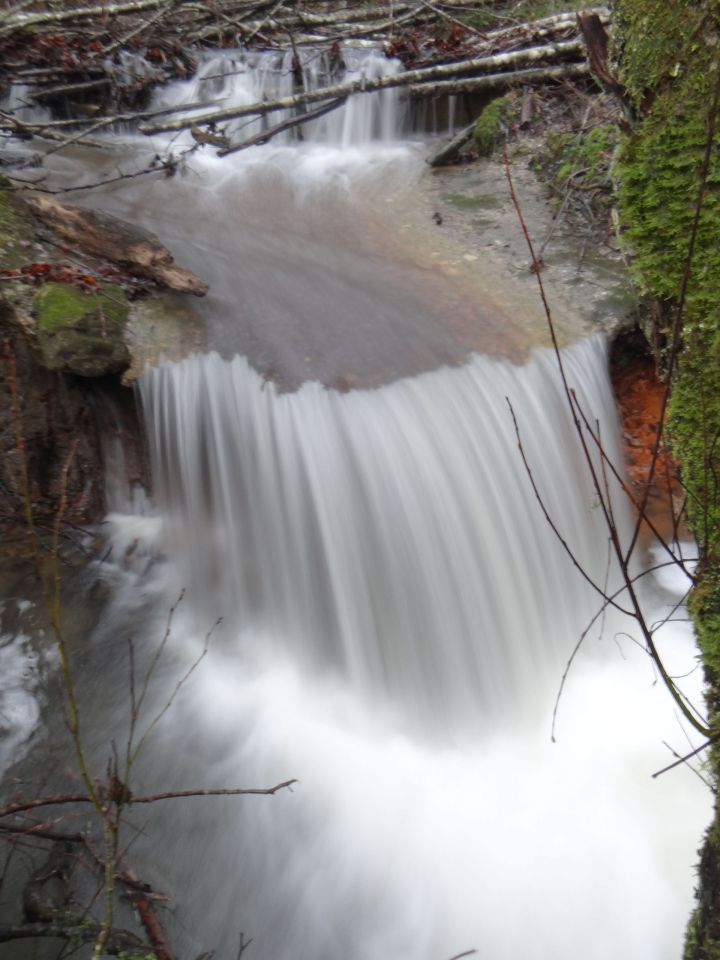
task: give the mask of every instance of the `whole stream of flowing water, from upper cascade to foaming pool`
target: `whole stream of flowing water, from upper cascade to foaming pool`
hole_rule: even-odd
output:
[[[251,102],[267,73],[224,55],[166,101]],[[547,509],[613,589],[607,534],[552,353],[511,362],[523,318],[395,243],[383,204],[420,181],[422,154],[383,96],[312,141],[200,155],[179,183],[107,197],[213,293],[212,349],[139,383],[152,501],[113,487],[113,600],[83,694],[98,756],[127,715],[127,635],[152,656],[186,588],[148,717],[223,623],[138,787],[298,783],[133,814],[182,956],[235,957],[242,931],[263,960],[676,960],[707,791],[686,769],[651,778],[686,734],[615,615],[588,634],[550,740],[598,598],[542,515],[508,400]],[[617,458],[604,341],[564,355]],[[682,581],[647,578],[653,619]],[[658,642],[697,695],[688,625]]]

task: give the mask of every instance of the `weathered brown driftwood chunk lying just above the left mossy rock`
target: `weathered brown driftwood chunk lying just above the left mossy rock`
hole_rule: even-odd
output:
[[[158,238],[101,210],[83,210],[53,197],[29,201],[33,213],[63,239],[102,260],[181,293],[202,297],[208,285],[178,266]]]

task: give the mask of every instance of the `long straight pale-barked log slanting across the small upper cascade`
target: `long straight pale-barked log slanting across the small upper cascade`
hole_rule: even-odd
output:
[[[321,87],[309,90],[306,93],[297,93],[277,100],[251,103],[245,106],[228,107],[224,110],[214,110],[210,113],[195,116],[192,119],[179,117],[175,120],[165,120],[160,123],[140,124],[140,131],[146,135],[163,132],[186,130],[191,126],[203,126],[209,123],[223,123],[227,120],[236,120],[240,117],[263,115],[277,110],[289,110],[306,103],[318,103],[321,100],[335,100],[340,97],[349,97],[353,93],[373,93],[376,90],[388,90],[393,87],[404,87],[412,84],[421,84],[430,80],[456,78],[468,74],[490,72],[497,68],[513,69],[528,63],[540,60],[558,60],[564,57],[574,57],[582,53],[584,47],[581,40],[568,40],[561,43],[544,44],[540,47],[531,47],[526,50],[515,50],[511,53],[500,53],[490,57],[481,57],[474,60],[462,60],[458,63],[442,66],[425,67],[422,70],[408,70],[391,76],[362,78],[347,83],[335,84],[330,87]]]

